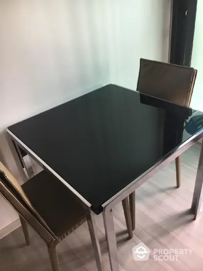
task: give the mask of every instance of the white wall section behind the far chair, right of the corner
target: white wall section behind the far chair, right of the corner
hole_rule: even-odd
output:
[[[167,62],[171,0],[112,1],[112,82],[136,90],[140,58]]]

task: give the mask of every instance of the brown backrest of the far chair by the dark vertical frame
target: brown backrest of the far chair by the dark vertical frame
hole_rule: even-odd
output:
[[[137,91],[189,107],[197,70],[140,59]]]

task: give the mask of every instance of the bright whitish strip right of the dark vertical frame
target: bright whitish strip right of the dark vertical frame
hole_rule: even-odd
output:
[[[203,1],[197,1],[196,22],[194,31],[194,42],[192,50],[191,67],[197,69],[197,77],[192,94],[191,107],[203,111]]]

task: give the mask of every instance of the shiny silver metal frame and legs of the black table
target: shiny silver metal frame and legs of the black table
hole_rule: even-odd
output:
[[[88,227],[90,231],[90,237],[92,246],[94,249],[95,259],[98,271],[104,271],[103,262],[101,258],[101,251],[99,246],[99,240],[96,230],[96,224],[94,219],[94,213],[91,210],[91,204],[86,201],[81,195],[75,191],[69,184],[64,182],[64,180],[44,162],[42,161],[35,153],[32,152],[19,138],[17,138],[9,129],[7,129],[9,135],[10,146],[16,160],[17,166],[19,167],[20,172],[24,175],[24,171],[22,168],[22,163],[20,163],[20,156],[16,153],[19,152],[18,146],[25,150],[25,152],[35,160],[40,166],[43,168],[47,168],[51,173],[53,173],[61,182],[64,183],[73,193],[78,196],[83,203],[86,204],[88,209]],[[190,146],[192,146],[195,142],[203,137],[203,129],[197,132],[195,135],[191,136],[188,140],[182,143],[179,147],[174,149],[171,153],[167,154],[163,157],[162,160],[158,161],[154,166],[152,166],[149,170],[144,172],[141,176],[134,179],[128,186],[123,188],[120,192],[106,201],[103,206],[103,218],[104,218],[104,225],[105,225],[105,232],[106,232],[106,239],[108,244],[108,252],[109,252],[109,259],[110,259],[110,266],[112,271],[119,271],[118,265],[118,254],[117,254],[117,243],[116,243],[116,234],[114,228],[114,220],[113,220],[113,208],[116,204],[121,202],[124,198],[130,195],[133,191],[136,191],[142,184],[144,184],[149,178],[151,178],[156,172],[158,172],[161,168],[175,160],[178,156],[185,152]],[[12,144],[13,142],[13,144]],[[15,147],[14,147],[15,146]],[[51,170],[50,170],[51,169]],[[24,175],[25,177],[25,175]],[[194,214],[194,220],[200,214],[200,205],[201,205],[201,197],[202,197],[202,185],[203,185],[203,144],[201,144],[201,151],[199,157],[199,163],[197,168],[194,192],[193,192],[193,199],[191,205],[191,212]]]

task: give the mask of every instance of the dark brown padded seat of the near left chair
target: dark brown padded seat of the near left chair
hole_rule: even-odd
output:
[[[22,188],[48,227],[63,239],[86,220],[86,210],[53,174],[43,170]]]

